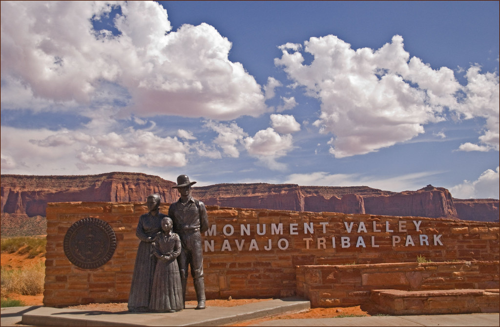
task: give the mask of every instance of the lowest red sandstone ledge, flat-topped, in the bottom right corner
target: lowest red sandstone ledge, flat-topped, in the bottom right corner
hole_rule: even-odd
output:
[[[498,290],[372,290],[370,300],[388,315],[441,315],[499,312]]]

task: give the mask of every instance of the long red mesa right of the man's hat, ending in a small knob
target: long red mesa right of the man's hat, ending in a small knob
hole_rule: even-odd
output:
[[[194,192],[205,204],[221,207],[458,218],[449,191],[432,185],[418,191],[395,193],[366,186],[216,184],[196,187]]]

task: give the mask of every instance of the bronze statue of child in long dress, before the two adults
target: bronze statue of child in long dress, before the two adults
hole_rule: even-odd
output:
[[[172,313],[184,308],[177,257],[180,254],[180,238],[172,233],[172,220],[164,217],[161,229],[152,243],[152,255],[157,258],[149,310]]]

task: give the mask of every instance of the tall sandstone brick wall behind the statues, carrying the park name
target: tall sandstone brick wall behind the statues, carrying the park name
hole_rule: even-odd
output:
[[[167,212],[168,204],[160,207]],[[498,223],[420,217],[312,213],[207,206],[204,237],[208,299],[296,294],[295,266],[498,260]],[[45,306],[126,302],[143,203],[69,202],[47,206]],[[83,218],[107,222],[116,234],[113,257],[84,270],[63,252],[68,228]],[[188,280],[188,299],[193,299]]]

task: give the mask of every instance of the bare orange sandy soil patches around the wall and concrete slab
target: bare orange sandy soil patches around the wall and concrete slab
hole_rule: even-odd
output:
[[[13,269],[19,269],[23,267],[27,267],[29,265],[36,264],[40,261],[45,261],[45,257],[37,256],[34,258],[29,258],[27,254],[19,254],[19,253],[1,253],[1,266],[9,267]],[[19,294],[11,294],[10,298],[15,300],[23,301],[27,306],[42,306],[43,305],[43,295],[36,296],[23,296]],[[207,307],[234,307],[241,306],[244,304],[260,302],[260,301],[269,301],[272,299],[229,299],[229,300],[207,300]],[[187,305],[196,305],[195,301],[187,301]],[[78,310],[98,310],[98,311],[107,311],[107,312],[122,312],[127,311],[126,303],[106,303],[106,304],[88,304],[81,306],[71,306],[68,309],[78,309]],[[363,308],[364,309],[364,308]],[[340,315],[363,315],[370,316],[366,311],[361,310],[359,306],[350,307],[350,308],[315,308],[310,309],[307,312],[298,313],[298,314],[289,314],[289,315],[281,315],[275,317],[268,317],[259,320],[253,320],[251,322],[239,323],[233,326],[247,326],[251,323],[260,323],[269,320],[275,319],[300,319],[300,318],[333,318]]]

